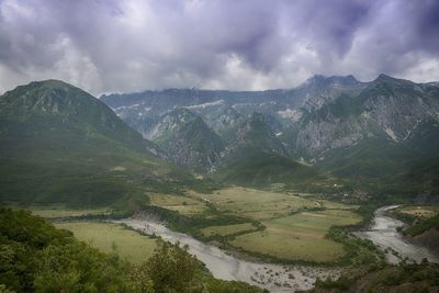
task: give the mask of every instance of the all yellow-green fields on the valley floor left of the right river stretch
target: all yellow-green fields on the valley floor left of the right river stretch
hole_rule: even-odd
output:
[[[313,194],[261,191],[249,188],[226,188],[212,193],[187,191],[185,195],[153,193],[151,205],[177,211],[188,217],[205,216],[206,225],[198,227],[204,237],[219,236],[223,241],[245,251],[289,261],[328,263],[346,251],[339,243],[326,239],[330,226],[358,223],[357,205],[316,199]],[[207,209],[212,205],[218,214]],[[104,214],[108,209],[64,210],[60,207],[32,209],[44,217]],[[218,215],[241,217],[240,222],[209,224]],[[246,222],[248,218],[248,222]],[[244,219],[244,221],[243,221]],[[261,226],[256,226],[260,223]],[[154,250],[155,241],[115,224],[78,222],[57,224],[72,230],[75,236],[103,251],[111,251],[113,243],[119,253],[134,262],[142,262]],[[236,235],[238,234],[238,235]]]

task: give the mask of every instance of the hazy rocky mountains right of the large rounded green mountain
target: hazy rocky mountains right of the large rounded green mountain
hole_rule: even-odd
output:
[[[167,155],[198,171],[215,172],[258,149],[361,182],[406,188],[416,177],[406,192],[438,193],[437,82],[315,76],[288,90],[168,89],[100,99],[145,138],[159,146],[171,139],[178,151],[164,146]],[[171,120],[176,113],[183,115]],[[188,123],[202,144],[181,134]],[[423,161],[430,166],[424,171]]]

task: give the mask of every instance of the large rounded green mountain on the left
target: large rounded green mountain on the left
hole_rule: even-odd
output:
[[[0,201],[108,205],[191,176],[104,103],[57,80],[0,97]]]

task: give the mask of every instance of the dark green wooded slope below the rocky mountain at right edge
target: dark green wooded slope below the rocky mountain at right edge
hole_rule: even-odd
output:
[[[382,137],[363,140],[348,149],[327,153],[317,167],[374,195],[393,194],[407,200],[428,192],[428,201],[435,202],[439,199],[439,157],[420,149],[423,144],[395,143]]]

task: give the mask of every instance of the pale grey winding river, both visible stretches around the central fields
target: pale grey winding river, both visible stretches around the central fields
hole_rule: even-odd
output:
[[[383,206],[375,211],[373,225],[370,229],[354,233],[358,237],[372,240],[381,249],[392,248],[403,258],[414,261],[427,258],[431,262],[439,262],[438,258],[427,249],[407,243],[396,228],[404,225],[401,221],[389,217],[385,212],[397,207]],[[334,268],[318,268],[306,266],[282,266],[244,260],[209,244],[201,243],[191,236],[167,228],[162,223],[148,217],[133,217],[115,221],[148,235],[160,236],[170,243],[179,241],[188,245],[189,252],[202,261],[215,278],[228,281],[243,281],[270,292],[294,292],[309,290],[317,278],[338,278],[341,270]],[[387,249],[389,250],[389,249]],[[396,263],[399,258],[387,253],[389,262]]]

